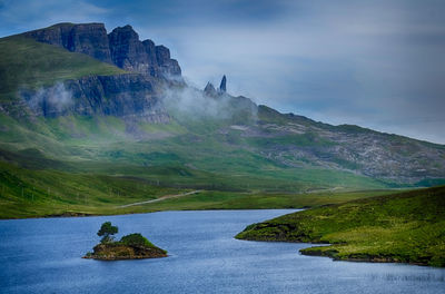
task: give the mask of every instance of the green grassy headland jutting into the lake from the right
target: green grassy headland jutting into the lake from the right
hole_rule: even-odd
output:
[[[445,266],[445,187],[289,214],[250,225],[236,237],[328,243],[301,253],[343,261]]]

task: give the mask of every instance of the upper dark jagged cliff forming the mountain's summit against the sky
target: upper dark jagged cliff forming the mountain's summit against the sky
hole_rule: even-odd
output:
[[[23,36],[89,55],[130,72],[168,78],[181,76],[178,61],[170,58],[170,50],[151,40],[140,41],[131,26],[116,28],[107,35],[103,23],[59,23]]]

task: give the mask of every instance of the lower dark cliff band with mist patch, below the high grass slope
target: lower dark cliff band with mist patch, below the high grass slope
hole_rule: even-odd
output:
[[[91,76],[20,95],[37,116],[106,115],[168,122],[156,85],[148,75]]]

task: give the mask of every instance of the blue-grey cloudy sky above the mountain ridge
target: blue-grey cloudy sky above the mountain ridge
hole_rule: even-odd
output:
[[[442,0],[0,0],[0,36],[131,24],[187,80],[283,112],[445,144]]]

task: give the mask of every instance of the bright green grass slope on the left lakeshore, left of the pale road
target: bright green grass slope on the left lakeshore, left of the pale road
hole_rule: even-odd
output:
[[[0,218],[131,213],[117,206],[180,192],[136,177],[33,170],[0,161]]]

